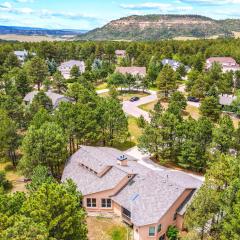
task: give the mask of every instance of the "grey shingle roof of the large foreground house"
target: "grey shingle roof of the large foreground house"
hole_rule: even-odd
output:
[[[83,195],[115,189],[129,178],[111,199],[131,209],[132,223],[137,226],[158,222],[186,189],[196,190],[202,185],[187,173],[167,168],[155,171],[109,147],[81,146],[65,166],[62,181],[69,178]]]

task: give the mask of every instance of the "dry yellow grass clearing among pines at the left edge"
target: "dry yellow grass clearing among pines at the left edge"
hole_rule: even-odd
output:
[[[0,171],[5,170],[7,165],[11,165],[11,163],[2,163],[0,162]],[[6,171],[6,178],[12,182],[13,188],[12,192],[24,192],[26,191],[25,185],[23,182],[24,177],[17,170]]]

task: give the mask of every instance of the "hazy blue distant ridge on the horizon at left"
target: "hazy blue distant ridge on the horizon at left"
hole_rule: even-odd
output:
[[[86,33],[86,30],[74,29],[45,29],[45,28],[32,28],[32,27],[17,27],[17,26],[0,26],[0,34],[17,34],[17,35],[79,35]]]

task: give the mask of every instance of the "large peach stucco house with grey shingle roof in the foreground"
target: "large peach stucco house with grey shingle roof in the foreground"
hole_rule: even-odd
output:
[[[134,240],[163,240],[183,228],[186,206],[202,181],[180,171],[151,168],[108,147],[81,146],[63,171],[83,194],[88,213],[115,214],[133,227]]]

